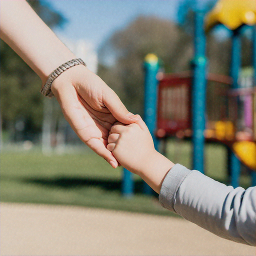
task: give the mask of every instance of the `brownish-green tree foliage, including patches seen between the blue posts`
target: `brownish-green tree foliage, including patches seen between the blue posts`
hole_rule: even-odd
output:
[[[192,12],[188,18],[193,27]],[[230,39],[218,40],[212,33],[206,37],[208,71],[229,75]],[[251,64],[250,52],[251,41],[243,37],[242,66]],[[109,53],[115,62],[107,66],[102,63]],[[193,34],[170,20],[140,16],[102,45],[99,76],[116,91],[130,111],[139,114],[143,113],[143,60],[147,53],[159,57],[165,72],[189,70],[193,58]]]

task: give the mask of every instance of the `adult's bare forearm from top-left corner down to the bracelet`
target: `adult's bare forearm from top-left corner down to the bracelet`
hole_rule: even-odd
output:
[[[75,58],[25,0],[0,1],[0,36],[43,83],[53,69]]]

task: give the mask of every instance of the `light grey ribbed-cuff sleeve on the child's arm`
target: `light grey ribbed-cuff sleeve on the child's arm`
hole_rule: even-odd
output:
[[[256,245],[256,187],[219,183],[175,164],[163,180],[159,201],[204,229],[229,240]]]

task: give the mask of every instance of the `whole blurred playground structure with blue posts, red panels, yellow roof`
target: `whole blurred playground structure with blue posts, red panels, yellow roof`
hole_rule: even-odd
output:
[[[158,58],[145,58],[144,120],[153,137],[191,137],[193,169],[204,173],[204,143],[206,140],[226,145],[231,185],[239,185],[240,162],[251,170],[252,184],[256,185],[256,5],[253,0],[219,0],[205,18],[198,4],[195,11],[193,72],[160,74]],[[231,31],[232,50],[230,76],[206,72],[205,32],[216,24]],[[242,87],[239,81],[241,45],[245,28],[253,30],[252,84]],[[206,86],[213,86],[207,114]],[[131,195],[131,173],[124,169],[123,194]],[[145,193],[150,188],[145,184]]]

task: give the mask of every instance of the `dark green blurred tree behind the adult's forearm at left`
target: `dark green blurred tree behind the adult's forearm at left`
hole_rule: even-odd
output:
[[[44,22],[53,27],[65,19],[39,0],[28,1]],[[24,121],[25,133],[38,133],[42,122],[40,79],[4,42],[0,41],[0,101],[3,129],[13,130],[15,122]]]

